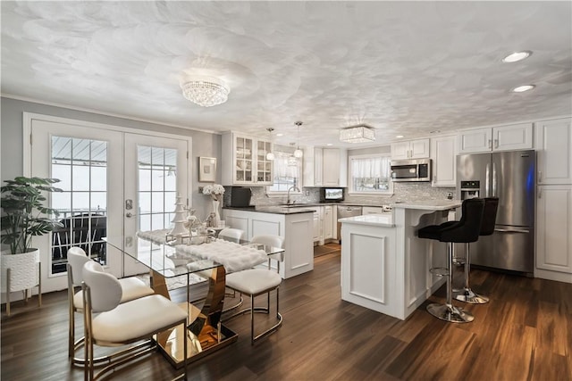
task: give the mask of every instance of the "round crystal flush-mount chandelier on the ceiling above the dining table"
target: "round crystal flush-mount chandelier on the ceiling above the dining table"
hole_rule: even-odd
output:
[[[231,92],[220,79],[204,77],[181,82],[182,95],[190,102],[203,107],[223,104]]]

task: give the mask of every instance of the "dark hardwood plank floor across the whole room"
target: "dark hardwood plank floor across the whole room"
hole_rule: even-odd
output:
[[[467,306],[473,323],[442,322],[425,305],[401,321],[342,302],[340,252],[315,257],[314,271],[283,281],[276,333],[251,346],[248,316],[232,319],[238,342],[192,362],[189,379],[572,380],[572,285],[483,270],[472,283],[491,297]],[[442,287],[431,300],[443,297]],[[82,379],[67,359],[65,292],[35,302],[16,302],[2,318],[2,379]],[[156,352],[110,378],[176,374]]]

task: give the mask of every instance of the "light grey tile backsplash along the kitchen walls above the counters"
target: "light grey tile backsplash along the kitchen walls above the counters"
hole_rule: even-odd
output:
[[[228,205],[231,202],[231,186],[225,186],[225,188],[224,204]],[[286,195],[266,195],[265,186],[253,186],[251,189],[252,198],[250,204],[252,205],[286,203]],[[394,183],[393,195],[391,196],[348,195],[346,193],[345,202],[382,204],[395,203],[396,201],[444,200],[449,193],[452,193],[453,196],[455,195],[454,186],[431,186],[430,183]],[[319,203],[320,188],[304,187],[302,188],[302,195],[290,195],[290,198],[296,200],[296,203]]]

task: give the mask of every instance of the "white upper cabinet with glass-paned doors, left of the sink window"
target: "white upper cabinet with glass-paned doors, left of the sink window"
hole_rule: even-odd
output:
[[[233,132],[223,134],[221,165],[223,186],[272,185],[273,162],[266,160],[271,152],[270,142]]]

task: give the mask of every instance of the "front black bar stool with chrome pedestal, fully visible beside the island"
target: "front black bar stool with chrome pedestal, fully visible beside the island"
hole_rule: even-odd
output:
[[[435,318],[450,321],[452,323],[468,323],[475,317],[462,309],[455,307],[452,302],[453,284],[453,252],[454,243],[476,242],[481,232],[481,222],[483,220],[484,200],[481,198],[471,198],[463,201],[461,205],[462,215],[458,221],[449,221],[441,225],[431,225],[420,228],[417,231],[419,238],[434,239],[447,243],[447,268],[431,269],[438,276],[447,277],[447,301],[445,304],[431,303],[427,306],[427,311]]]

